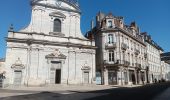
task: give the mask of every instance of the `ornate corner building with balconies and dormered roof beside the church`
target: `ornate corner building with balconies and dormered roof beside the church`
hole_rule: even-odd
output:
[[[147,82],[146,44],[135,22],[126,25],[121,16],[99,12],[96,26],[86,37],[94,40],[98,47],[96,69],[101,73],[102,84],[131,85]]]

